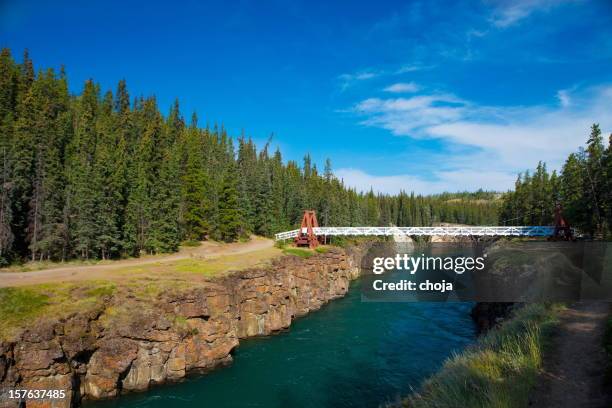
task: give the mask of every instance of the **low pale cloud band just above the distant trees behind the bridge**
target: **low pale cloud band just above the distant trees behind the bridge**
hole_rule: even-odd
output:
[[[445,191],[506,190],[514,185],[516,175],[504,172],[485,173],[475,171],[440,171],[432,179],[425,179],[410,174],[376,176],[354,168],[343,168],[335,171],[345,185],[358,191],[367,192],[373,189],[377,193],[397,194],[400,191],[417,194],[436,194]]]

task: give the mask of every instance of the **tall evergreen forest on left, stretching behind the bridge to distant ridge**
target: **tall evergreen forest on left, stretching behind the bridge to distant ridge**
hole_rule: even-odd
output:
[[[306,155],[284,161],[244,134],[187,122],[178,101],[131,99],[125,81],[69,92],[64,69],[0,53],[0,260],[116,258],[321,225],[495,224],[488,192],[395,196],[357,192]],[[406,186],[409,190],[410,186]]]

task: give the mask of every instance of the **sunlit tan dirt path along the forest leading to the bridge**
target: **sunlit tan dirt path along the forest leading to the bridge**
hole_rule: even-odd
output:
[[[203,242],[201,246],[182,248],[171,255],[147,256],[120,261],[109,261],[99,265],[59,266],[30,272],[0,271],[0,287],[25,286],[41,283],[58,283],[90,279],[121,279],[124,275],[113,273],[126,267],[140,267],[172,263],[183,259],[217,259],[228,255],[247,254],[266,250],[274,246],[274,241],[261,237],[252,237],[248,242],[223,244]]]

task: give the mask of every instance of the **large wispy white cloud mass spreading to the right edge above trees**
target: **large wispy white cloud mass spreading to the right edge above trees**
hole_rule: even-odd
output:
[[[505,190],[518,172],[540,160],[551,169],[560,168],[567,155],[584,144],[591,124],[600,123],[606,133],[612,130],[612,86],[573,91],[571,99],[569,94],[557,96],[560,106],[484,106],[442,93],[365,99],[353,108],[363,125],[469,149],[444,157],[444,167],[433,174],[433,182],[425,183],[432,187],[407,175],[371,180],[357,173],[347,176],[355,183],[380,182],[388,189],[414,183],[416,191]]]

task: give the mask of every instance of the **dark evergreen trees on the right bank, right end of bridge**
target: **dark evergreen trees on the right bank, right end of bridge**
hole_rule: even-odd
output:
[[[586,146],[571,153],[561,171],[545,163],[518,175],[514,191],[504,195],[500,223],[550,225],[560,204],[570,225],[592,237],[609,237],[612,226],[612,135],[607,146],[598,124]]]

